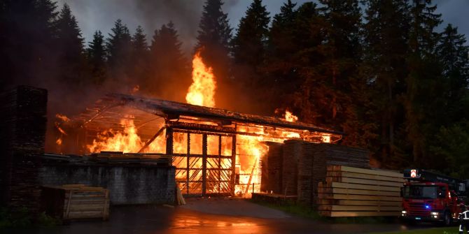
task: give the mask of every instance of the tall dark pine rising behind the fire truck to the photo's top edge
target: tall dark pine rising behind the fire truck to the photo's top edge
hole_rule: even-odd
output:
[[[431,167],[426,143],[437,131],[435,125],[444,115],[440,112],[444,92],[440,62],[435,57],[438,34],[435,27],[440,24],[440,16],[435,14],[436,6],[430,0],[414,0],[410,13],[412,24],[409,34],[410,54],[407,58],[405,94],[406,133],[416,166]]]

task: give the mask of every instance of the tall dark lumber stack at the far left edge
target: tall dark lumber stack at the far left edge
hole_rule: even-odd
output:
[[[44,152],[47,90],[19,86],[0,94],[1,201],[36,212],[38,156]]]

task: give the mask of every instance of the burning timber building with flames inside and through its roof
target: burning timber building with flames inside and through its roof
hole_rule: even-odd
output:
[[[71,119],[57,116],[57,151],[170,156],[186,196],[249,196],[260,191],[267,142],[337,142],[342,133],[284,118],[215,108],[216,80],[200,54],[193,59],[187,103],[108,94]]]

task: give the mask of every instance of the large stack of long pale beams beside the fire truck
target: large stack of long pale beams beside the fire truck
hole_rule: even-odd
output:
[[[318,183],[318,212],[325,217],[395,216],[402,210],[402,173],[327,166]]]

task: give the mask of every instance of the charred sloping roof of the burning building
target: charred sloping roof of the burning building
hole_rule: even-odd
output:
[[[93,122],[99,118],[106,118],[109,114],[116,115],[116,111],[110,112],[113,108],[131,108],[141,112],[164,117],[165,119],[179,119],[181,116],[195,117],[212,122],[218,122],[225,126],[233,123],[254,124],[259,126],[271,126],[274,128],[295,129],[316,133],[328,133],[342,136],[344,133],[329,129],[322,129],[312,124],[302,122],[288,122],[286,119],[276,117],[264,117],[260,115],[249,115],[220,108],[209,108],[176,101],[166,101],[158,98],[146,98],[128,94],[107,94],[98,101],[95,108],[90,108],[81,115],[80,120],[83,125]],[[132,112],[132,115],[135,111]],[[137,118],[137,117],[136,117]],[[113,118],[116,119],[116,118]]]

